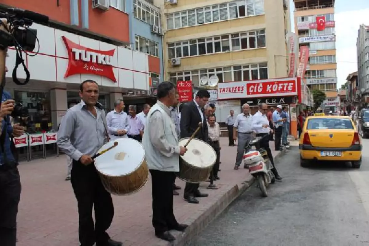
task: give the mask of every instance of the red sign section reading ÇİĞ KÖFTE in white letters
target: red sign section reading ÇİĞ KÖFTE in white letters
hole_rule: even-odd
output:
[[[246,84],[247,95],[280,94],[296,92],[296,80],[248,82]]]

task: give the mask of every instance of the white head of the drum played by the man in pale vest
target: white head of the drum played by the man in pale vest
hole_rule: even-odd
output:
[[[179,141],[179,146],[184,146],[189,138]],[[206,168],[212,166],[217,160],[217,154],[213,147],[200,139],[192,139],[187,145],[187,152],[181,158],[190,165]]]

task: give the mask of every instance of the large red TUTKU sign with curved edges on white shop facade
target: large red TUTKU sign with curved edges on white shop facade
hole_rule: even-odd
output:
[[[112,65],[115,49],[98,51],[76,44],[64,36],[62,39],[68,50],[68,68],[65,78],[76,74],[92,74],[117,82]]]

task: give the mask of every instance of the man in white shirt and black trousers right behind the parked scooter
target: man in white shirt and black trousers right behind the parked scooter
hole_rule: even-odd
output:
[[[265,136],[270,133],[273,133],[273,130],[270,129],[269,120],[268,117],[266,117],[266,113],[268,112],[268,105],[266,103],[262,103],[259,105],[259,111],[254,114],[252,117],[252,127],[254,128],[254,132],[256,133],[256,136]],[[269,148],[269,137],[263,138],[259,145],[256,148],[264,148],[266,150],[266,153],[268,153],[268,157],[270,162],[273,165],[272,172],[277,180],[282,180],[282,177],[279,176],[277,169],[274,165],[272,150]]]

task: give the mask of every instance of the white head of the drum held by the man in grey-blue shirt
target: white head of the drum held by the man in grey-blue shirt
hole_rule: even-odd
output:
[[[99,152],[114,145],[118,146],[108,150],[95,158],[96,169],[107,176],[125,176],[139,168],[145,159],[144,147],[131,138],[119,138],[106,143]]]

